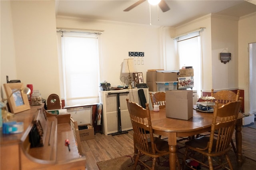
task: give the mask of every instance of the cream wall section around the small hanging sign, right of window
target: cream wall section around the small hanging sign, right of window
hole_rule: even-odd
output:
[[[214,91],[238,89],[238,19],[212,16],[212,88]],[[221,63],[220,53],[231,53]]]

